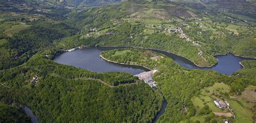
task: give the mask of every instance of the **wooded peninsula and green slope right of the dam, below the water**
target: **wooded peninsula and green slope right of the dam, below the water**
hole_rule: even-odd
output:
[[[187,70],[184,67],[180,67],[166,56],[143,49],[126,48],[104,51],[102,52],[102,56],[112,61],[143,65],[159,71],[154,75],[153,79],[157,81],[158,88],[163,92],[167,100],[165,113],[160,117],[159,121],[177,122],[190,118],[190,120],[193,121],[195,115],[197,118],[200,117],[199,115],[205,115],[205,119],[201,121],[216,120],[216,117],[214,117],[214,114],[211,112],[221,112],[221,110],[213,104],[215,98],[225,98],[228,102],[231,102],[231,105],[235,105],[231,107],[235,114],[239,115],[239,118],[236,119],[237,121],[245,121],[245,119],[246,121],[252,121],[252,111],[249,111],[253,107],[252,103],[246,103],[244,101],[244,105],[238,106],[235,104],[237,99],[231,99],[230,95],[239,95],[248,85],[255,85],[254,78],[249,79],[248,77],[249,74],[253,77],[253,72],[247,73],[248,76],[246,77],[243,75],[237,76],[237,73],[247,71],[243,69],[234,73],[233,76],[228,77],[224,74],[218,74],[209,70]],[[152,56],[162,57],[154,60]],[[254,63],[254,61],[244,62]],[[239,81],[243,81],[243,83]],[[203,92],[200,90],[203,90]],[[251,107],[246,105],[250,105]],[[188,112],[185,110],[184,106]],[[241,111],[238,110],[239,108],[240,110],[242,109],[241,111],[250,112],[250,115],[240,116]],[[172,117],[167,117],[167,115],[171,115]],[[233,120],[230,119],[230,121]]]

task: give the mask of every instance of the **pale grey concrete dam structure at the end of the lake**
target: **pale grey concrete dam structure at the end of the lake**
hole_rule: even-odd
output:
[[[143,73],[139,73],[135,75],[136,77],[139,77],[140,80],[144,80],[145,83],[149,84],[150,87],[156,87],[156,82],[153,81],[152,77],[154,73],[156,73],[157,70],[147,71]]]

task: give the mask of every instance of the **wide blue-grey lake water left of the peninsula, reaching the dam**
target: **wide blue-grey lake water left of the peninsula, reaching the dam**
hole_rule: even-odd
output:
[[[57,63],[80,67],[93,72],[127,72],[131,74],[139,74],[149,71],[142,66],[121,65],[110,63],[99,57],[100,52],[105,50],[117,49],[118,47],[90,47],[75,50],[73,52],[65,52],[57,56],[54,61]]]

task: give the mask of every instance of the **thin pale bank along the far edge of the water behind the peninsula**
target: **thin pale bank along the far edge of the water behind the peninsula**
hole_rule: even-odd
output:
[[[144,47],[136,47],[136,46],[99,46],[99,47],[124,47],[124,48],[126,48],[126,47],[129,48],[129,47],[130,47],[130,48],[137,48],[137,49],[157,50],[157,51],[167,52],[167,53],[171,53],[171,54],[174,54],[174,55],[176,55],[176,56],[179,56],[179,57],[183,57],[183,58],[185,58],[185,59],[191,61],[194,65],[196,65],[197,67],[200,67],[200,68],[211,68],[211,67],[213,67],[213,66],[215,66],[215,65],[217,65],[217,64],[219,63],[219,61],[218,61],[217,63],[213,64],[212,66],[199,66],[198,64],[194,63],[194,61],[192,61],[192,60],[190,60],[190,59],[188,59],[188,58],[186,58],[186,57],[184,57],[184,56],[180,56],[180,55],[178,55],[178,54],[175,54],[175,53],[172,53],[172,52],[169,52],[169,51],[158,50],[158,49],[151,49],[151,48],[144,48]],[[216,56],[223,56],[223,55],[227,55],[227,54],[229,54],[229,53],[232,53],[234,56],[237,56],[237,57],[248,58],[249,60],[250,60],[250,59],[255,59],[255,60],[256,60],[256,57],[243,57],[243,56],[238,56],[238,55],[234,54],[233,52],[227,52],[227,53],[225,53],[225,54],[216,54],[216,55],[214,55],[213,57],[216,57]],[[240,63],[240,64],[241,64],[241,63]],[[241,64],[241,65],[242,65],[242,64]],[[244,65],[242,65],[242,67],[244,68]]]

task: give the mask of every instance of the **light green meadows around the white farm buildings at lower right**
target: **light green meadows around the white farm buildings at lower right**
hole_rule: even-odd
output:
[[[247,89],[253,89],[255,86],[248,86]],[[207,90],[207,92],[205,91]],[[247,104],[246,100],[239,99],[239,97],[224,97],[224,93],[230,92],[230,86],[224,84],[224,83],[215,83],[211,87],[207,87],[204,90],[201,90],[201,93],[197,97],[193,97],[191,99],[193,105],[197,108],[197,111],[200,111],[201,108],[204,107],[204,105],[208,105],[212,112],[227,112],[220,110],[217,106],[214,105],[213,100],[215,98],[220,98],[218,96],[221,96],[220,99],[224,98],[225,100],[230,103],[230,107],[233,109],[233,112],[235,114],[235,121],[236,122],[249,122],[252,121],[253,113],[249,110],[253,105],[251,103]],[[214,93],[214,94],[213,94]],[[241,97],[247,97],[247,96],[253,96],[246,92],[242,92]],[[246,106],[248,105],[248,106]],[[199,119],[200,121],[203,119],[201,116],[191,117],[190,120],[195,121],[196,119]]]

